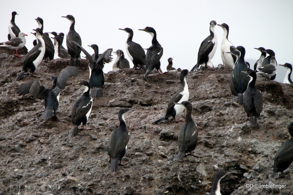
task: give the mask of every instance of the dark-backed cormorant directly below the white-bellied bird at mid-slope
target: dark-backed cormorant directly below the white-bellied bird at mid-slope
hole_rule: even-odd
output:
[[[181,160],[184,157],[185,152],[192,152],[196,148],[198,141],[198,128],[192,120],[192,104],[188,101],[183,101],[181,103],[176,103],[176,105],[186,108],[185,122],[178,135],[179,153],[175,158],[175,160]]]

